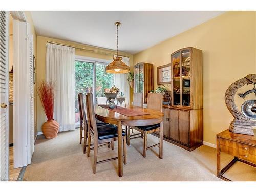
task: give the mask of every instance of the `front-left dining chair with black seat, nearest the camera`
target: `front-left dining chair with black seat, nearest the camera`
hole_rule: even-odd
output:
[[[97,164],[118,159],[118,157],[114,157],[114,158],[110,158],[110,159],[97,161],[99,144],[105,143],[105,142],[113,143],[114,141],[117,141],[118,134],[117,134],[117,126],[116,125],[107,124],[107,125],[103,125],[103,126],[97,126],[95,113],[94,113],[93,94],[88,93],[86,95],[86,100],[87,100],[87,102],[86,102],[87,109],[89,112],[89,118],[88,118],[88,132],[89,133],[88,133],[87,157],[90,156],[91,138],[93,138],[93,140],[94,140],[93,173],[95,174]],[[123,139],[123,161],[124,161],[124,164],[126,164],[126,139],[125,139],[124,131],[122,131],[122,139]],[[112,150],[114,150],[113,147],[112,147]]]

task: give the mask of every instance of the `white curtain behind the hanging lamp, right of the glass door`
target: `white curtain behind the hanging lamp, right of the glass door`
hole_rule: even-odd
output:
[[[116,56],[116,55],[114,55]],[[129,57],[123,57],[122,61],[127,65],[130,66],[129,63]],[[130,101],[130,85],[127,80],[128,75],[127,74],[114,74],[114,85],[118,87],[123,92],[123,97],[125,98],[126,104],[129,104]],[[123,103],[124,104],[124,103]]]

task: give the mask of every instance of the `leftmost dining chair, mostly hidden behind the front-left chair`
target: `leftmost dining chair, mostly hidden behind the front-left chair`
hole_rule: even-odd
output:
[[[79,114],[80,114],[80,144],[83,141],[83,153],[86,153],[86,146],[87,146],[87,137],[88,137],[88,115],[86,114],[86,110],[84,108],[84,99],[83,99],[83,93],[78,93],[78,106],[79,106]],[[104,123],[102,121],[96,120],[97,126],[102,126],[108,123]],[[82,136],[82,132],[84,131],[84,136]],[[108,147],[110,147],[110,143],[108,143]]]

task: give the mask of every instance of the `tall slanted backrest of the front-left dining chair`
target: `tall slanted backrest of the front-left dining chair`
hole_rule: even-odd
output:
[[[94,104],[93,104],[93,94],[87,93],[86,94],[86,104],[87,104],[87,114],[88,114],[88,134],[90,131],[93,132],[94,138],[98,138],[98,130],[96,125],[96,118],[94,113]]]

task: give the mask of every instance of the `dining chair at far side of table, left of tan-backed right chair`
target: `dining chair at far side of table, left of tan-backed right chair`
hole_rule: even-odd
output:
[[[143,93],[133,93],[133,106],[139,106],[140,108],[143,107]],[[136,133],[131,135],[130,130],[132,129],[133,133],[133,127],[126,126],[126,142],[127,145],[130,145],[130,139],[128,140],[127,137],[135,136],[135,135],[141,135],[141,138],[143,138],[143,133]],[[134,137],[133,137],[134,138]]]

